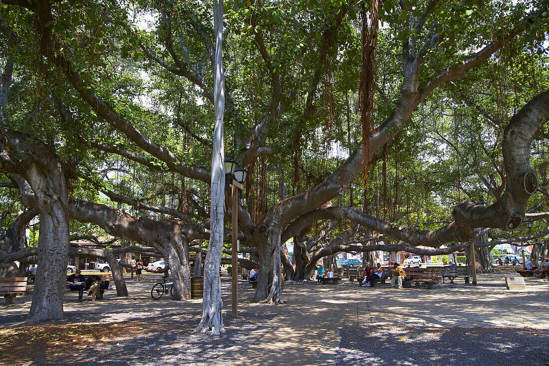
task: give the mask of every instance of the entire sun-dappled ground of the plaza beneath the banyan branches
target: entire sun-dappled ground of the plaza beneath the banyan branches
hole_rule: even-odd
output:
[[[254,292],[239,280],[236,319],[225,277],[227,333],[214,338],[191,334],[200,300],[150,297],[158,275],[128,281],[128,298],[110,291],[105,301],[79,303],[66,292],[66,321],[58,324],[26,325],[27,295],[0,307],[0,363],[545,365],[549,283],[526,278],[525,291],[507,291],[504,275],[513,274],[480,274],[478,286],[457,279],[435,290],[290,281],[283,306],[250,303]]]

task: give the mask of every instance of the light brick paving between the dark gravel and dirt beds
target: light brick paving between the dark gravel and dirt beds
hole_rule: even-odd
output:
[[[348,280],[337,286],[290,281],[282,293],[283,306],[250,303],[254,292],[247,281],[239,281],[239,309],[243,313],[259,310],[276,316],[228,348],[211,365],[333,364],[340,329],[351,325],[388,329],[394,324],[549,329],[546,317],[549,283],[526,279],[525,291],[512,292],[505,289],[503,276],[503,273],[480,274],[478,286],[465,285],[463,279],[456,279],[455,284],[440,284],[435,290],[359,287]],[[223,278],[226,314],[231,310],[229,286],[228,278]],[[97,321],[101,314],[100,321],[116,322],[172,311],[198,314],[201,310],[200,300],[153,301],[151,287],[151,282],[128,281],[129,298],[116,298],[111,291],[106,295],[107,301],[85,299],[83,303],[76,302],[75,292],[68,292],[65,298],[68,321],[88,318]],[[0,325],[15,326],[24,320],[30,301],[30,296],[18,297],[14,306],[0,306]]]

